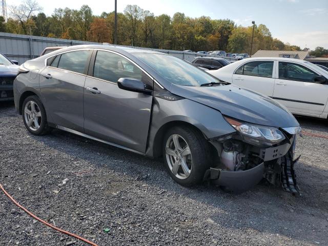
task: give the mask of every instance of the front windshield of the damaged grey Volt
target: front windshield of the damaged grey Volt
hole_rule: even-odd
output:
[[[207,72],[203,72],[190,63],[174,56],[154,53],[134,53],[134,55],[162,77],[176,85],[200,86],[206,83],[220,82]]]

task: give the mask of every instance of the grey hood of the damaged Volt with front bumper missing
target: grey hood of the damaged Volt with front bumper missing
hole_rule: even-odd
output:
[[[189,87],[172,84],[171,92],[214,108],[223,115],[253,124],[299,126],[289,110],[270,97],[235,85]]]

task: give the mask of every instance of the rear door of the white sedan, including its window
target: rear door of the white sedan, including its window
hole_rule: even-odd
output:
[[[232,83],[272,96],[275,79],[273,60],[253,60],[238,67],[232,75]]]

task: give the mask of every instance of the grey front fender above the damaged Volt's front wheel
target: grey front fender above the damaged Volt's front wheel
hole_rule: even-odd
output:
[[[154,154],[155,137],[159,130],[173,121],[195,126],[208,139],[235,132],[222,114],[215,109],[189,99],[169,101],[154,97],[147,155]]]

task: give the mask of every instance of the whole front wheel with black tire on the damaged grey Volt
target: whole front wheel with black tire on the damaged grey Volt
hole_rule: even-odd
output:
[[[210,168],[208,142],[203,135],[191,127],[173,127],[162,145],[170,176],[182,186],[198,185]]]

